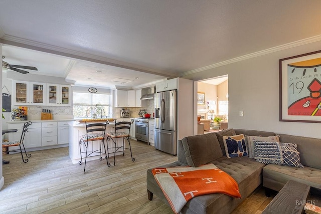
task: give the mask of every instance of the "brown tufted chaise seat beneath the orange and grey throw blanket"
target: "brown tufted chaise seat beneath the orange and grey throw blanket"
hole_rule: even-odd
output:
[[[236,180],[242,198],[233,198],[221,193],[200,195],[189,200],[181,210],[182,213],[218,213],[218,210],[220,213],[230,213],[234,207],[244,201],[262,182],[262,168],[265,164],[259,163],[254,159],[222,156],[212,161],[212,163]],[[175,165],[186,164],[177,161],[172,163],[172,166]],[[166,166],[169,167],[169,165]],[[159,188],[153,178],[151,169],[147,170],[147,189],[167,202],[161,188]]]

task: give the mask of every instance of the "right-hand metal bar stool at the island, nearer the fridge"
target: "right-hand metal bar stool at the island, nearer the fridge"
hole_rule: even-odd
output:
[[[133,119],[130,120],[130,122],[116,122],[115,120],[115,131],[112,132],[108,132],[107,133],[107,151],[109,151],[109,149],[114,149],[113,152],[114,153],[114,166],[115,166],[115,157],[116,157],[116,152],[121,149],[122,151],[122,155],[124,156],[125,154],[125,139],[128,141],[129,144],[129,150],[130,150],[130,155],[131,155],[131,160],[135,161],[135,158],[132,157],[132,152],[131,152],[131,146],[130,146],[130,127],[131,124],[134,122]],[[118,138],[122,138],[122,146],[118,146],[117,144],[117,139]],[[108,141],[112,140],[112,142],[114,143],[114,147],[108,148]],[[109,154],[109,152],[108,152]]]

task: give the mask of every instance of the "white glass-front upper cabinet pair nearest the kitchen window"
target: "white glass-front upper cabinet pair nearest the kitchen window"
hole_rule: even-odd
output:
[[[47,106],[71,106],[71,86],[47,83]]]

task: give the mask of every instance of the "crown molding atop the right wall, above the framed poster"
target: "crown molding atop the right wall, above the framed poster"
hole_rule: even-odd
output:
[[[251,59],[251,58],[254,58],[254,57],[262,56],[262,55],[265,55],[265,54],[270,54],[270,53],[282,51],[282,50],[285,50],[285,49],[294,48],[294,47],[297,47],[297,46],[301,46],[301,45],[305,45],[305,44],[309,44],[309,43],[313,43],[313,42],[318,42],[318,41],[321,41],[321,35],[317,35],[317,36],[310,37],[310,38],[307,38],[307,39],[298,40],[298,41],[295,41],[295,42],[291,42],[291,43],[287,43],[287,44],[284,44],[284,45],[276,46],[274,48],[265,49],[263,51],[254,52],[254,53],[247,54],[247,55],[244,55],[244,56],[241,56],[241,57],[236,57],[236,58],[233,58],[233,59],[230,59],[230,60],[226,60],[226,61],[223,61],[223,62],[215,63],[213,65],[209,65],[209,66],[205,66],[205,67],[202,67],[202,68],[194,69],[192,71],[187,71],[187,72],[181,73],[181,77],[182,76],[186,76],[186,75],[190,75],[190,74],[195,74],[195,73],[198,73],[198,72],[201,72],[201,71],[210,70],[210,69],[217,68],[217,67],[220,67],[220,66],[224,66],[224,65],[240,62],[240,61],[243,61],[243,60]]]

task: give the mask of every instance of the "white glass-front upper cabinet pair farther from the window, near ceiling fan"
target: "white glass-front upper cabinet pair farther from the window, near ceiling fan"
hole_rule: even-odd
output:
[[[13,105],[46,105],[46,83],[13,81]]]

